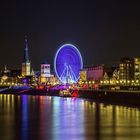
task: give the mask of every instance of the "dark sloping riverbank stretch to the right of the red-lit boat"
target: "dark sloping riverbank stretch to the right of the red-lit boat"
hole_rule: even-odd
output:
[[[79,90],[79,98],[92,99],[98,102],[139,106],[140,107],[140,91],[127,90]]]

